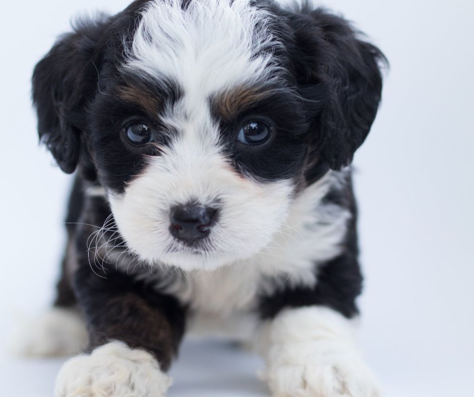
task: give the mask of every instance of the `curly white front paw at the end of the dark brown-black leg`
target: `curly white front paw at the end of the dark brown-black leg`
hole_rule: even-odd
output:
[[[171,378],[148,352],[110,342],[67,361],[56,378],[55,397],[163,397]]]

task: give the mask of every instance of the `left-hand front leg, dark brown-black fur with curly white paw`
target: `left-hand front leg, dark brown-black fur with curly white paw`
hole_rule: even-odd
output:
[[[185,309],[171,296],[116,271],[102,279],[82,267],[76,292],[84,310],[90,353],[67,361],[55,397],[162,397],[182,339]]]

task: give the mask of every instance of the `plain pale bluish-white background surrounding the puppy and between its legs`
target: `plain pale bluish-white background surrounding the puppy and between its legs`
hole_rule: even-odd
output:
[[[70,178],[38,149],[35,62],[71,16],[128,0],[4,2],[0,25],[0,341],[52,299]],[[472,395],[474,370],[474,3],[327,0],[391,62],[372,133],[356,156],[366,289],[361,337],[389,397]],[[2,396],[50,396],[61,360],[11,358]],[[170,396],[265,396],[260,361],[187,345]]]

